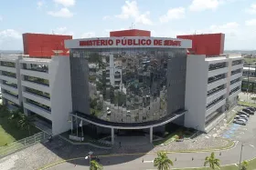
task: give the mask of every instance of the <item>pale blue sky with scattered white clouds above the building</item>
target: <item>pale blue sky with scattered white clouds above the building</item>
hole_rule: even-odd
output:
[[[256,0],[0,0],[0,50],[23,50],[23,33],[109,36],[224,33],[226,50],[256,50]]]

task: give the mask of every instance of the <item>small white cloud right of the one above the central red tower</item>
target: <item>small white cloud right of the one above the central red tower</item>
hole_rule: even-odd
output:
[[[171,8],[167,11],[165,15],[159,17],[161,23],[166,23],[170,20],[181,19],[185,17],[185,8],[184,7],[177,7]]]

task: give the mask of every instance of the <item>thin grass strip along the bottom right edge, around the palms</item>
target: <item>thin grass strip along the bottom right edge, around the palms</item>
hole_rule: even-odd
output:
[[[221,159],[220,159],[220,161],[221,161]],[[256,168],[256,159],[253,159],[253,160],[249,161],[249,166],[248,166],[247,170],[254,170],[255,168]],[[176,169],[176,168],[174,168],[174,169]],[[209,169],[209,167],[198,167],[198,168],[186,168],[186,169],[176,169],[176,170],[208,170],[208,169]],[[220,167],[220,170],[238,170],[238,169],[239,169],[239,167],[236,165],[225,165],[225,166]]]

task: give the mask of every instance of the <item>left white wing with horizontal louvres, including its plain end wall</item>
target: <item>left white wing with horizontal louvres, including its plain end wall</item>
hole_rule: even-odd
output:
[[[50,134],[69,130],[72,111],[69,57],[3,56],[0,61],[4,104],[11,108],[23,105],[24,113],[37,115],[36,125],[43,126]]]

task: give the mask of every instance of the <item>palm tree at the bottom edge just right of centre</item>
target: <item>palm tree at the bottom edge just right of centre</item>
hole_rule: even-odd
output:
[[[168,170],[170,169],[170,165],[174,165],[174,163],[168,158],[166,153],[158,152],[154,160],[154,166],[157,166],[158,170]]]

